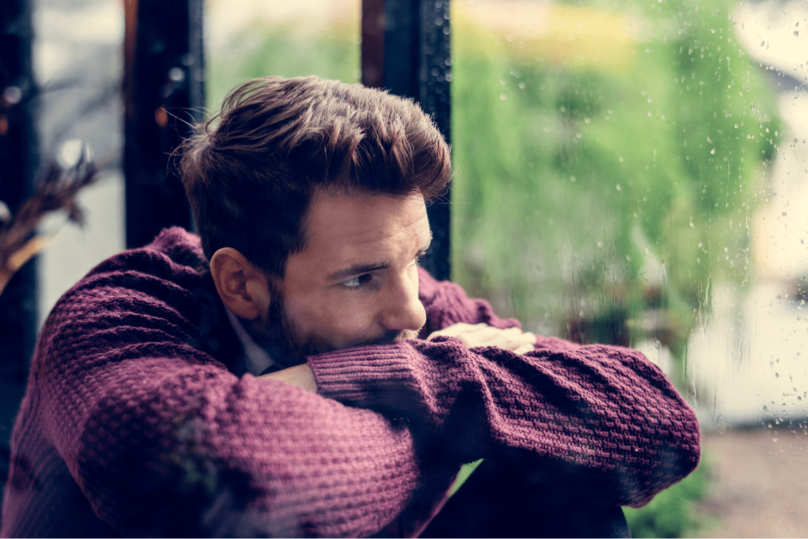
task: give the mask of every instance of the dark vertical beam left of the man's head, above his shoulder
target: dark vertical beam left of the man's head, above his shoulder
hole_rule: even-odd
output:
[[[204,106],[202,1],[129,0],[124,43],[126,244],[192,228],[169,155]]]

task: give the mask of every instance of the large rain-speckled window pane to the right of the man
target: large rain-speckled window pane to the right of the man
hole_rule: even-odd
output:
[[[808,10],[721,0],[452,10],[454,278],[530,331],[641,349],[696,408],[713,475],[760,478],[751,462],[719,473],[733,462],[727,448],[754,458],[754,444],[802,433],[808,416]],[[740,445],[713,443],[725,432]],[[802,438],[789,440],[805,462]],[[771,485],[743,487],[750,499],[781,487],[789,498],[793,479],[772,470]],[[642,528],[629,512],[633,533],[706,533],[709,519],[683,501],[713,495],[706,477],[703,466],[652,504],[679,511],[677,524]],[[748,503],[734,522],[760,516],[751,529],[776,534],[764,520],[783,506]]]

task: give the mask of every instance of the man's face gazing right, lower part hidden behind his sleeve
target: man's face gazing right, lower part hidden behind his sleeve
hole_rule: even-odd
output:
[[[267,327],[285,352],[415,338],[426,322],[416,262],[431,241],[423,197],[321,191],[305,225],[308,244],[288,258]]]

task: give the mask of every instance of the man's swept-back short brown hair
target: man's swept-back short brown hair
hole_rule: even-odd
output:
[[[204,254],[238,249],[283,278],[305,249],[315,190],[443,194],[449,149],[414,102],[318,77],[264,77],[225,98],[179,148]]]

